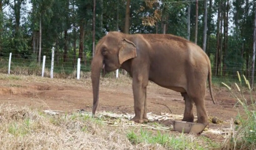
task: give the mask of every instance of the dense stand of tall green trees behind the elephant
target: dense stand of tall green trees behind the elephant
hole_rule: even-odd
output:
[[[0,0],[0,62],[12,52],[22,65],[40,63],[55,47],[57,68],[81,58],[89,71],[94,33],[95,44],[113,30],[166,33],[205,45],[215,76],[239,71],[252,82],[255,0],[206,2],[207,11],[204,0]]]

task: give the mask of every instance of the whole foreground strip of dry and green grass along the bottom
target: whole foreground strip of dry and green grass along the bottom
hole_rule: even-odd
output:
[[[0,149],[216,148],[209,147],[208,139],[205,142],[192,134],[162,134],[126,125],[113,127],[100,118],[80,113],[47,115],[9,104],[0,105],[0,133]]]

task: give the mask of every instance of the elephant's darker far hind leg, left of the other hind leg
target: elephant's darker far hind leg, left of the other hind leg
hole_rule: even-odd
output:
[[[193,113],[193,100],[188,96],[187,93],[181,93],[185,100],[185,110],[182,121],[194,122],[194,113]]]

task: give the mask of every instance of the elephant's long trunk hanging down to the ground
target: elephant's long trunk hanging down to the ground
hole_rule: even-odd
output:
[[[102,56],[95,56],[91,62],[91,82],[93,92],[92,114],[95,114],[99,102],[99,87],[101,69],[105,69]]]

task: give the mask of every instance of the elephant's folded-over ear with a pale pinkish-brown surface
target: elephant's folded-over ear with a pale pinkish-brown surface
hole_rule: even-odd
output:
[[[126,60],[135,57],[137,57],[135,44],[127,39],[123,39],[118,54],[119,63],[122,64]]]

